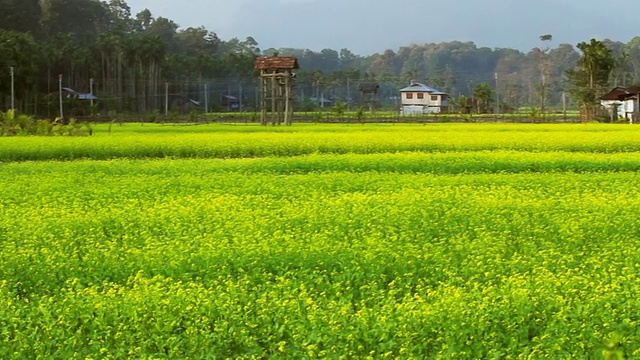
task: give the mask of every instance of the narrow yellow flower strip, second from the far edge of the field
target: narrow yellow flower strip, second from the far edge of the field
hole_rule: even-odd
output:
[[[32,176],[68,176],[61,186],[85,183],[94,176],[161,176],[191,181],[216,174],[314,174],[378,172],[396,174],[482,174],[620,172],[640,170],[640,152],[584,153],[525,151],[399,152],[379,154],[309,154],[295,157],[245,159],[146,159],[39,161],[0,164],[5,176],[31,182]],[[180,179],[183,176],[189,179]],[[77,178],[77,179],[76,179]],[[240,180],[241,181],[241,180]],[[322,186],[322,185],[319,185]]]

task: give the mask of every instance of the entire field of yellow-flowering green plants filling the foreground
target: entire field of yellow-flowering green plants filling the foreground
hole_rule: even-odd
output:
[[[0,358],[640,357],[640,127],[0,138]]]

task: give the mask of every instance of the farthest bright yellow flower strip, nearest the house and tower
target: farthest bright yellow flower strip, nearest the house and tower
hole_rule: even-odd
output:
[[[173,130],[173,131],[172,131]],[[340,131],[343,130],[343,131]],[[393,152],[640,152],[640,127],[625,125],[297,125],[201,127],[106,125],[85,138],[14,137],[0,161],[114,158],[248,158]]]

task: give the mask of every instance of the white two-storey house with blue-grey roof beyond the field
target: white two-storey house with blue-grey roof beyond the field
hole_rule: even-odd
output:
[[[403,115],[438,114],[449,107],[446,93],[415,81],[400,89],[400,100]]]

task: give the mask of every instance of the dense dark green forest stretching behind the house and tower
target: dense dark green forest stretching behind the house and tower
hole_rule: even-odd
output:
[[[379,106],[392,109],[397,90],[411,80],[447,92],[454,110],[457,99],[483,87],[502,109],[560,107],[571,104],[567,73],[582,54],[572,44],[554,44],[550,35],[526,53],[473,42],[412,44],[366,56],[348,49],[261,50],[252,37],[223,40],[147,9],[132,14],[124,0],[0,0],[0,10],[0,69],[6,69],[0,109],[11,107],[13,89],[19,111],[48,117],[58,113],[61,87],[98,97],[91,108],[66,94],[65,106],[76,116],[158,114],[188,105],[221,111],[232,101],[251,111],[258,103],[255,57],[274,54],[299,59],[299,109],[324,106],[324,100],[358,104],[363,82],[379,84]],[[640,82],[640,37],[602,43],[615,59],[607,86]]]

